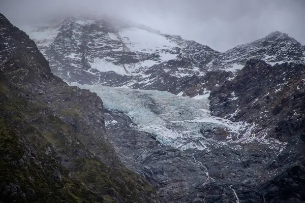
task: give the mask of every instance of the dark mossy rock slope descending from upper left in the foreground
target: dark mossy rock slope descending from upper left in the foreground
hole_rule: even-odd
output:
[[[54,76],[1,14],[0,33],[0,201],[159,202],[121,164],[102,100]]]

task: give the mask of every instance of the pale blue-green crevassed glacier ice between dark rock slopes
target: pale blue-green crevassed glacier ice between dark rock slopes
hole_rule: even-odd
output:
[[[102,98],[105,109],[127,114],[137,124],[138,130],[154,134],[161,144],[180,150],[203,150],[211,144],[216,145],[214,140],[202,136],[202,127],[227,128],[232,132],[239,128],[237,124],[211,116],[205,97],[195,99],[166,91],[78,83],[71,85],[96,92]]]

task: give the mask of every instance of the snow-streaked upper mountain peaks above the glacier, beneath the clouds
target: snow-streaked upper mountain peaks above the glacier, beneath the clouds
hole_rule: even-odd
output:
[[[272,64],[305,62],[300,43],[279,31],[221,53],[179,36],[109,19],[69,18],[55,25],[26,29],[50,61],[52,72],[80,84],[175,94],[182,91],[188,95],[186,88],[194,86],[185,83],[192,76],[201,77],[210,71],[236,72],[251,58]],[[41,36],[48,37],[42,40]]]

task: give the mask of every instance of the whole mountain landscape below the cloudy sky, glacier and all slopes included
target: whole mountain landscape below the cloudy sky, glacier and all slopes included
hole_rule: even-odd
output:
[[[0,15],[0,202],[305,202],[286,33],[218,52],[106,17],[20,29]]]

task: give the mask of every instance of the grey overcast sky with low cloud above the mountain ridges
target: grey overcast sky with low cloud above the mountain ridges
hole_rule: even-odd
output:
[[[50,15],[107,13],[218,51],[283,31],[305,45],[305,0],[0,0],[15,25]]]

